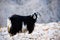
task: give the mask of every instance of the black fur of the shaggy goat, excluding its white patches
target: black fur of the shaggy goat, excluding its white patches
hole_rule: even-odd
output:
[[[34,15],[36,17],[35,19],[33,18]],[[20,16],[15,14],[10,17],[10,20],[12,24],[9,31],[10,34],[15,35],[19,31],[22,32],[22,22],[24,22],[24,25],[27,25],[27,30],[29,31],[30,34],[34,30],[35,22],[37,20],[37,14],[34,13],[29,16]]]

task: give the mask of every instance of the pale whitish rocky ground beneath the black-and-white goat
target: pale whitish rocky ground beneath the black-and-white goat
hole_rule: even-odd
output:
[[[7,27],[2,27],[0,40],[60,40],[60,22],[36,23],[31,34],[17,33],[13,37],[10,37]]]

